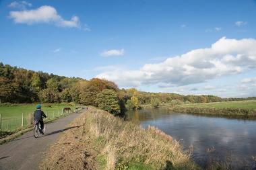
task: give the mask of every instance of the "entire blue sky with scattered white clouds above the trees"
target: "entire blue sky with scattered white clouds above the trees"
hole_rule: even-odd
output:
[[[142,91],[255,96],[254,16],[253,0],[0,1],[0,61]]]

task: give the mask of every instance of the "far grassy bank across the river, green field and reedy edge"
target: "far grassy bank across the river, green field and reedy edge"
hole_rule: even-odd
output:
[[[222,116],[256,116],[256,100],[224,101],[216,103],[194,103],[170,107],[174,112],[212,114]]]

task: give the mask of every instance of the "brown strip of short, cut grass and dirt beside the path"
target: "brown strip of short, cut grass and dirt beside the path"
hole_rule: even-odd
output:
[[[46,152],[40,169],[97,169],[96,153],[90,136],[85,135],[84,120],[79,116]]]

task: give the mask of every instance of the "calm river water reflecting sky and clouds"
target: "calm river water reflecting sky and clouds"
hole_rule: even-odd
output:
[[[205,166],[210,159],[231,158],[232,168],[254,167],[256,157],[256,121],[229,118],[195,116],[173,113],[164,109],[127,112],[128,120],[156,126],[183,143],[184,148],[193,146],[193,160]],[[212,148],[212,152],[207,152]]]

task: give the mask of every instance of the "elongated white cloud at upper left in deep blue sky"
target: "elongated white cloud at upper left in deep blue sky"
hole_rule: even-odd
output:
[[[70,20],[65,20],[54,7],[46,5],[32,10],[10,11],[9,17],[18,24],[46,23],[65,28],[80,28],[79,17],[74,15]]]

